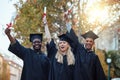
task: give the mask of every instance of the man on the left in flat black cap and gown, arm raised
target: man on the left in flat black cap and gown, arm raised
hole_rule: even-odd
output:
[[[41,52],[42,34],[30,34],[33,45],[33,49],[30,49],[23,47],[10,32],[11,30],[6,28],[5,33],[11,42],[9,51],[21,58],[24,63],[21,80],[48,80],[50,63]]]

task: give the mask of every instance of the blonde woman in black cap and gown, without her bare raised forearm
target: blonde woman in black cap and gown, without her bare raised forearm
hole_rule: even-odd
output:
[[[51,60],[49,80],[74,80],[75,58],[69,45],[71,40],[62,34],[58,45],[52,39],[47,44],[48,57]]]

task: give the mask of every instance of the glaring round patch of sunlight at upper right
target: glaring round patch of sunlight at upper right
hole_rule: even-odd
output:
[[[87,5],[86,8],[86,15],[88,19],[88,23],[95,24],[95,23],[102,23],[109,18],[109,9],[105,6],[105,3],[94,2],[91,5]]]

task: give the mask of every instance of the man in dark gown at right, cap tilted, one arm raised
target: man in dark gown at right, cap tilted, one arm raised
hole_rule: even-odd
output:
[[[74,43],[73,51],[75,53],[75,80],[106,80],[103,68],[98,56],[92,51],[94,40],[98,38],[96,34],[89,31],[82,35],[85,38],[85,44],[78,41],[74,30],[69,22],[66,23],[68,32],[66,33]]]

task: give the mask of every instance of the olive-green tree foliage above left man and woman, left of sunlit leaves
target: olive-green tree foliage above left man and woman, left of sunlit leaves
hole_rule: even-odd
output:
[[[58,28],[53,26],[54,23],[62,25],[63,6],[66,5],[68,0],[29,0],[23,4],[20,0],[19,6],[15,4],[17,10],[17,17],[14,23],[16,37],[23,40],[25,46],[29,44],[30,33],[43,33],[44,26],[42,22],[43,9],[47,7],[47,22],[50,32],[58,31]],[[70,1],[70,0],[69,0]]]

